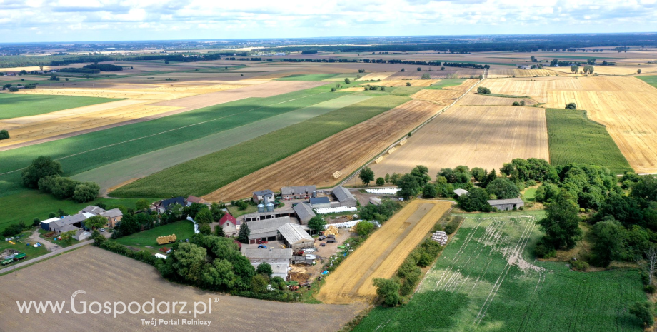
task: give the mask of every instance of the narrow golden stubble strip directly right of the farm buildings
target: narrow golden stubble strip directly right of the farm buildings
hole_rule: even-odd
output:
[[[371,303],[374,278],[391,278],[452,202],[415,200],[398,211],[326,277],[316,298],[324,303]]]

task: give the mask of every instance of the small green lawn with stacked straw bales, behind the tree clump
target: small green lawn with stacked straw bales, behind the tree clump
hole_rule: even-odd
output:
[[[156,239],[159,236],[171,234],[176,234],[178,240],[185,241],[186,238],[191,238],[191,236],[194,235],[194,223],[186,220],[176,221],[175,223],[169,223],[164,226],[149,229],[148,231],[130,234],[129,236],[110,241],[116,241],[116,243],[121,243],[124,246],[131,246],[141,250],[151,251],[152,253],[158,253],[159,248],[164,246],[170,247],[171,245],[165,244],[164,246],[159,246]],[[147,246],[151,248],[148,248]]]

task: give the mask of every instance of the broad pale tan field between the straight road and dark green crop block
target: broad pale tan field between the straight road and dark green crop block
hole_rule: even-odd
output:
[[[544,109],[453,106],[416,131],[393,154],[369,167],[376,176],[383,176],[408,173],[416,165],[424,165],[433,176],[441,168],[458,165],[490,170],[514,158],[549,157]]]

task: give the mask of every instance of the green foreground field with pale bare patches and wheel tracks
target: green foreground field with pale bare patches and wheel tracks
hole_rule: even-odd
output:
[[[642,331],[636,270],[534,261],[538,213],[468,214],[411,301],[374,308],[353,331]]]

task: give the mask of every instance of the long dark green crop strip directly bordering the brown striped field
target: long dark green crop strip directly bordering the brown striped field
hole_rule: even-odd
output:
[[[112,191],[111,196],[202,196],[406,101],[403,96],[373,97],[167,168]],[[276,149],[268,149],[272,142]]]

